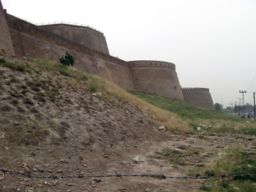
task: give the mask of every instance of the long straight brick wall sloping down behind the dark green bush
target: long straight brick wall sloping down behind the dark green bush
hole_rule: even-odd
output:
[[[65,38],[54,33],[51,36],[51,32],[38,29],[27,22],[23,24],[19,20],[16,25],[10,22],[10,26],[12,26],[10,31],[16,54],[59,62],[59,58],[67,51],[75,56],[75,67],[78,70],[102,76],[124,89],[134,90],[126,61],[100,51],[92,51],[84,45],[77,45],[75,42],[73,44],[69,40],[65,41]]]

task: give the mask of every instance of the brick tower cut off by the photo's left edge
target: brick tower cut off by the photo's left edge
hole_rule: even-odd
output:
[[[8,29],[8,25],[6,22],[6,14],[4,13],[1,0],[0,0],[0,49],[4,49],[6,52],[10,52],[14,54],[10,31]]]

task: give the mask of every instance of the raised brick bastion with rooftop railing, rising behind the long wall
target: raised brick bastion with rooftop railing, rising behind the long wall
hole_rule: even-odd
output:
[[[103,33],[85,26],[74,26],[68,24],[51,24],[38,26],[52,33],[56,33],[72,42],[91,47],[92,49],[109,54],[106,38]]]

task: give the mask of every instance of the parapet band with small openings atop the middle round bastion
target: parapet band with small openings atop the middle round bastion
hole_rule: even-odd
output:
[[[165,61],[129,61],[129,68],[166,68],[175,71],[175,65],[173,63]]]

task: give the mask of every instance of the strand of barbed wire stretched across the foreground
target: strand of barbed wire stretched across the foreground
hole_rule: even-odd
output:
[[[216,177],[221,177],[223,180],[225,180],[225,177],[256,177],[256,175],[251,175],[250,173],[245,174],[245,175],[212,175],[212,176],[204,176],[204,177],[191,177],[191,176],[186,176],[182,175],[180,177],[175,177],[175,176],[166,176],[164,174],[152,174],[152,175],[147,175],[147,174],[122,174],[122,173],[115,173],[114,175],[67,175],[67,176],[57,176],[57,175],[49,175],[49,176],[39,176],[39,175],[32,175],[31,173],[24,173],[24,172],[15,172],[12,170],[6,170],[4,168],[0,168],[0,171],[4,173],[12,173],[12,174],[19,174],[19,175],[24,175],[29,178],[38,178],[38,179],[65,179],[65,178],[78,178],[78,179],[88,179],[88,178],[99,178],[100,180],[97,180],[98,182],[101,181],[101,178],[103,177],[116,177],[118,179],[119,177],[123,179],[122,177],[154,177],[158,179],[212,179]]]

